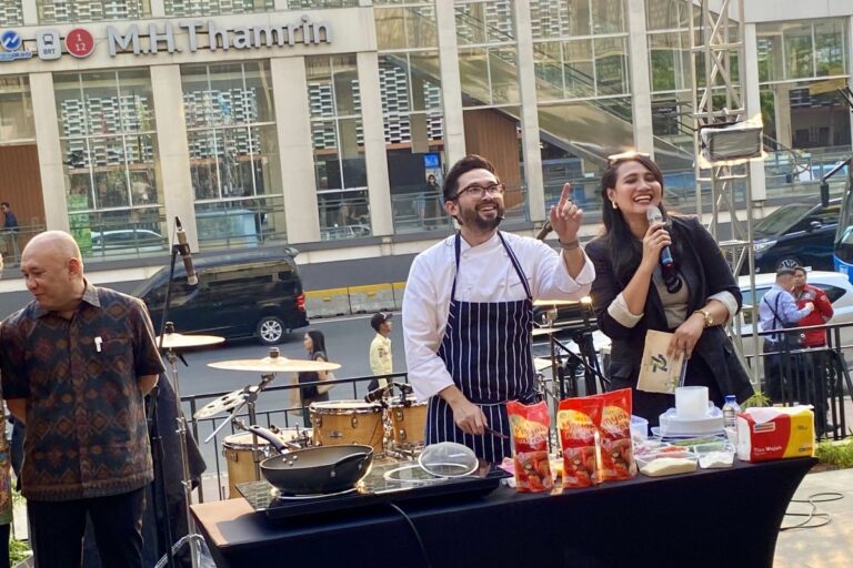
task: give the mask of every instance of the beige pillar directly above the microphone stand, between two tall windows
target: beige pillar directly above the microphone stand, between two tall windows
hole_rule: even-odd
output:
[[[179,65],[151,67],[151,91],[154,95],[157,145],[160,158],[160,180],[169,233],[174,217],[181,220],[190,248],[199,250],[195,226],[195,203],[190,176],[190,150],[187,144],[187,121],[183,114],[183,91]]]

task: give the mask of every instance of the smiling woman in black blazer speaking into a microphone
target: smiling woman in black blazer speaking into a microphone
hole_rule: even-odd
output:
[[[602,176],[603,233],[586,245],[595,266],[591,296],[599,328],[612,341],[611,388],[633,389],[633,414],[658,425],[674,396],[636,389],[646,331],[673,334],[685,385],[702,385],[719,407],[725,395],[752,395],[722,325],[741,292],[720,246],[695,217],[668,217],[663,175],[648,155],[618,154]],[[651,220],[651,221],[650,221]]]

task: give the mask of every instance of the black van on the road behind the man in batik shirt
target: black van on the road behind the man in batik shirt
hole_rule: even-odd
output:
[[[285,333],[308,325],[305,295],[293,257],[287,252],[250,253],[193,258],[197,286],[187,284],[178,260],[168,320],[178,333],[204,333],[228,338],[258,337],[263,345],[281,342]],[[169,268],[158,271],[133,295],[151,313],[154,331],[160,318]]]

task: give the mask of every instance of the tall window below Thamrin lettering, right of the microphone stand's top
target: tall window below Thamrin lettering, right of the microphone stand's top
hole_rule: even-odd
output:
[[[269,63],[183,65],[181,83],[199,246],[285,240]]]

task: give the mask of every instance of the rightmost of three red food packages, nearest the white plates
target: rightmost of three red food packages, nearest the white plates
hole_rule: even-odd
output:
[[[603,402],[601,415],[601,463],[599,479],[612,481],[631,479],[636,475],[634,448],[631,443],[631,389],[623,388],[599,395]]]

